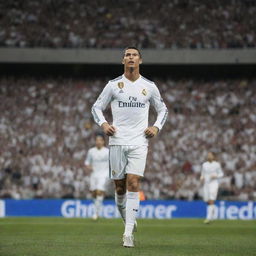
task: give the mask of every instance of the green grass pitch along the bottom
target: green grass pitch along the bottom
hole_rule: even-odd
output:
[[[138,220],[123,248],[120,219],[3,218],[0,256],[256,255],[256,221]]]

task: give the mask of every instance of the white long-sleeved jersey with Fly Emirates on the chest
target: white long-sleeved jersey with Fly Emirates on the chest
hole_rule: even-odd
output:
[[[111,103],[113,126],[116,133],[109,145],[147,145],[144,131],[148,127],[150,104],[157,112],[154,126],[162,129],[168,110],[154,82],[140,76],[132,82],[124,75],[110,80],[92,107],[95,122],[107,122],[102,111]]]

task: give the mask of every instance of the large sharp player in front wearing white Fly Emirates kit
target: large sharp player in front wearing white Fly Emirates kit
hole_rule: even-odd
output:
[[[124,74],[110,80],[92,107],[95,122],[109,138],[110,178],[115,182],[115,201],[125,223],[123,246],[134,247],[133,231],[139,210],[140,178],[143,177],[148,140],[162,129],[168,110],[155,83],[140,75],[142,57],[136,47],[127,47]],[[103,111],[111,104],[113,124]],[[149,106],[157,119],[148,127]]]

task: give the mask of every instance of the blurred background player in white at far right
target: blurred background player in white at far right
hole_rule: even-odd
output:
[[[204,201],[207,202],[207,215],[204,221],[209,224],[214,218],[214,202],[217,198],[219,181],[223,177],[223,171],[220,163],[217,162],[216,156],[213,152],[208,152],[207,161],[203,163],[200,180],[204,187]]]

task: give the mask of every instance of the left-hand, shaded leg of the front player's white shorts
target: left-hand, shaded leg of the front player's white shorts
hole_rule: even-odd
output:
[[[125,147],[114,145],[109,148],[109,177],[113,180],[122,180],[125,178],[125,167],[127,158]]]

